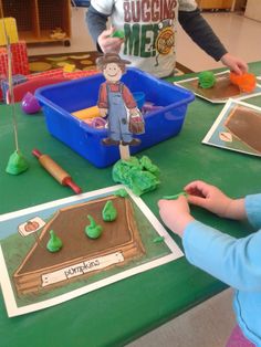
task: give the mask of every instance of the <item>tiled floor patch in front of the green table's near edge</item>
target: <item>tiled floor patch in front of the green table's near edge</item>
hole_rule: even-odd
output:
[[[225,347],[236,324],[227,290],[127,347]]]

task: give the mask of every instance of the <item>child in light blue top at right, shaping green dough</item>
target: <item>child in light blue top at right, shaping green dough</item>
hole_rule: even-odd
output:
[[[244,345],[237,346],[261,346],[261,193],[233,200],[203,181],[187,185],[185,191],[187,198],[159,200],[160,217],[182,238],[185,254],[191,264],[236,290],[233,307],[239,326],[229,344],[238,338]],[[196,221],[188,202],[222,218],[248,219],[257,232],[242,239],[232,238]]]

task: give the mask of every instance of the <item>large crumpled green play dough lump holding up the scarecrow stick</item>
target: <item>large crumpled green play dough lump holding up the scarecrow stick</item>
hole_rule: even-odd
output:
[[[127,186],[136,196],[154,190],[159,185],[159,169],[147,156],[142,159],[119,159],[113,166],[112,174],[115,182]]]

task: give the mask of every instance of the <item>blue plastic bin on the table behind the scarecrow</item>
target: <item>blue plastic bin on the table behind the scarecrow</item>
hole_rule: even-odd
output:
[[[104,81],[103,74],[96,74],[49,85],[35,92],[43,106],[49,132],[98,168],[117,161],[119,149],[117,146],[106,147],[101,144],[107,137],[106,129],[95,129],[71,113],[95,106],[100,85]],[[144,92],[146,102],[163,106],[145,115],[145,134],[135,136],[140,138],[142,144],[129,147],[132,155],[180,132],[187,106],[195,98],[191,92],[134,67],[127,70],[122,81],[132,93]]]

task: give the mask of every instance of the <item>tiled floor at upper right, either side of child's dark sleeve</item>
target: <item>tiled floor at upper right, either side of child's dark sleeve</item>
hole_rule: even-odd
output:
[[[261,59],[261,22],[248,19],[242,13],[230,12],[203,12],[203,18],[231,54],[240,56],[246,62]],[[222,66],[222,63],[213,61],[200,50],[181,28],[178,30],[177,42],[177,61],[192,71]]]

